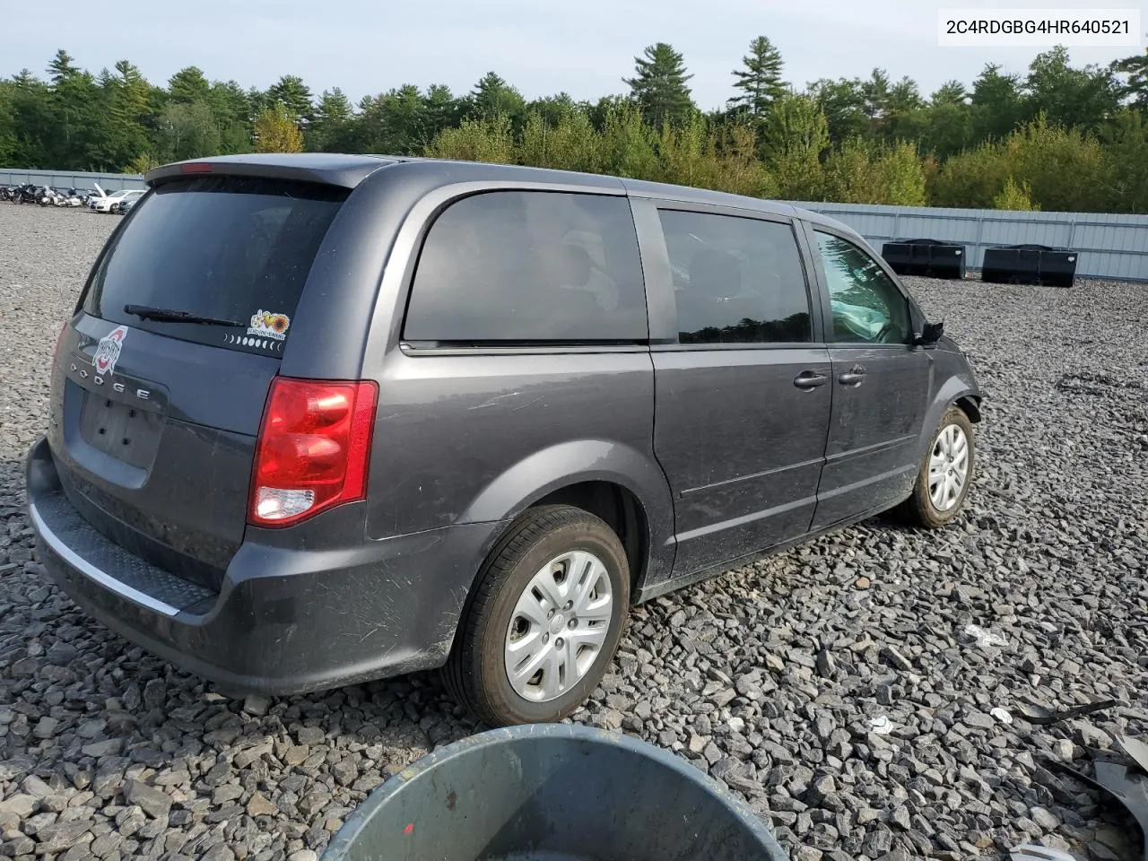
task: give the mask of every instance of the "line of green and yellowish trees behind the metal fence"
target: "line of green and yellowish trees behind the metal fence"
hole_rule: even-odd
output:
[[[635,57],[627,90],[597,101],[527,100],[495,72],[471,91],[408,84],[352,103],[285,75],[266,90],[165,86],[126,60],[99,75],[59,51],[47,78],[0,80],[0,164],[144,172],[245,152],[432,155],[677,183],[761,197],[901,205],[1148,212],[1148,54],[1073,67],[1063,47],[1026,73],[987,64],[924,95],[910,78],[798,88],[766,37],[700,109],[682,54]]]

